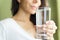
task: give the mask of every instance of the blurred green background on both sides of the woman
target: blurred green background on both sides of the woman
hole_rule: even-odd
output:
[[[3,20],[11,15],[11,1],[12,0],[0,0],[0,20]],[[55,40],[60,40],[60,0],[49,0],[51,7],[51,17],[55,21],[58,29],[54,34]]]

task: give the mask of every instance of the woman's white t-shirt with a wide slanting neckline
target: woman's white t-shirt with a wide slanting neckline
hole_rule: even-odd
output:
[[[12,18],[0,21],[0,40],[37,40],[31,37]]]

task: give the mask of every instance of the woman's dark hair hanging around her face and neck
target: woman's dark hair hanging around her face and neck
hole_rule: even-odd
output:
[[[45,6],[45,2],[44,2],[44,0],[41,0],[41,6],[40,7],[44,7],[44,6]],[[13,16],[17,13],[18,9],[19,9],[19,3],[17,2],[17,0],[12,0],[11,11],[12,11]],[[30,20],[34,25],[36,25],[36,14],[31,15]]]

